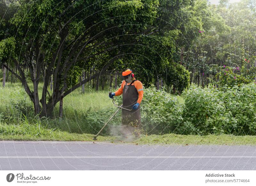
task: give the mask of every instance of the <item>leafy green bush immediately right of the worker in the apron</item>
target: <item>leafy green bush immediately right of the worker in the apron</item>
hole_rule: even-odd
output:
[[[183,120],[183,107],[178,98],[163,90],[148,88],[141,104],[141,122],[148,134],[166,134]]]

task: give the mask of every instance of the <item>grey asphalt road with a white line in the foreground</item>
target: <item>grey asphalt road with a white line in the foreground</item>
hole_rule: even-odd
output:
[[[256,170],[256,146],[0,141],[0,170]]]

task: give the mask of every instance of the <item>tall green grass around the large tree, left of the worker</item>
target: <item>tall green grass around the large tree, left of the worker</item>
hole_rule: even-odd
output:
[[[28,85],[32,88],[31,83]],[[39,95],[42,93],[42,86],[39,84]],[[86,114],[114,108],[108,91],[96,92],[87,86],[82,94],[81,89],[76,89],[63,99],[62,120],[59,119],[59,103],[51,118],[39,119],[34,115],[32,102],[21,83],[7,82],[5,88],[0,88],[0,134],[45,135],[57,130],[80,134],[95,133],[86,119]]]

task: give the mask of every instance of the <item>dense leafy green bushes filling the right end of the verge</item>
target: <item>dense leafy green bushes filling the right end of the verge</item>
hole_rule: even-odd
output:
[[[255,135],[255,93],[255,83],[222,90],[192,85],[182,94],[185,133]]]

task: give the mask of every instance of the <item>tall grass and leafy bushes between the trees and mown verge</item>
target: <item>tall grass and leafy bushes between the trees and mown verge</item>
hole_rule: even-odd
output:
[[[81,95],[77,90],[65,99],[66,106],[61,120],[57,109],[54,112],[55,117],[40,118],[39,115],[34,115],[33,105],[23,89],[11,86],[6,91],[6,88],[0,89],[0,94],[8,97],[10,101],[1,105],[1,135],[37,136],[51,134],[55,130],[96,134],[116,110],[107,91],[87,90],[87,95]],[[115,99],[118,104],[122,98]],[[148,88],[144,91],[141,103],[142,131],[145,135],[255,135],[255,99],[255,83],[223,87],[221,90],[213,86],[201,88],[192,84],[180,96],[173,96],[154,87]],[[121,112],[104,128],[102,134],[120,136],[120,131],[116,130],[120,122]]]

